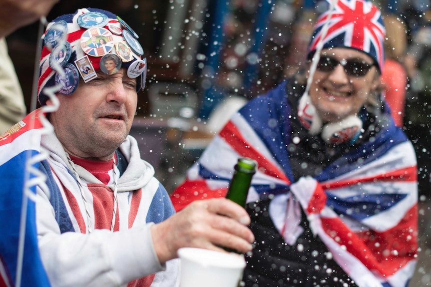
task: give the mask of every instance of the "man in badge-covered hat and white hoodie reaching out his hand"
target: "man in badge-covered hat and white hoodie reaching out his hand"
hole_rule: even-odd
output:
[[[146,68],[140,73],[129,68],[145,63],[145,58],[131,51],[132,59],[122,62],[115,49],[86,49],[89,28],[80,17],[88,12],[107,18],[103,26],[90,28],[112,46],[126,40],[109,31],[108,25],[126,27],[105,10],[83,8],[54,19],[45,35],[65,38],[47,40],[41,51],[42,108],[0,138],[18,147],[25,140],[19,135],[38,134],[38,140],[29,143],[31,149],[41,146],[48,152],[39,165],[47,180],[36,187],[35,213],[40,258],[50,285],[173,287],[178,284],[176,251],[181,247],[222,251],[221,245],[250,251],[249,217],[227,200],[196,202],[175,214],[152,166],[140,159],[137,142],[128,135],[146,76]],[[64,45],[64,40],[71,46],[70,59],[62,66],[49,63],[51,48]],[[118,58],[119,70],[104,73],[103,57]],[[95,77],[84,81],[79,73],[83,63],[91,65]],[[68,88],[61,84],[63,70],[71,80]],[[49,88],[57,85],[59,106],[46,113],[53,133],[44,134],[38,115],[55,107]]]

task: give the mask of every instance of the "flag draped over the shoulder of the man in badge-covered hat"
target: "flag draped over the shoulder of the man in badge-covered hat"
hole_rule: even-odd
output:
[[[17,282],[19,225],[24,184],[35,180],[26,163],[40,154],[42,127],[37,113],[11,127],[0,136],[0,287],[13,287]],[[15,140],[18,139],[19,144]],[[38,168],[38,162],[32,165]],[[21,286],[49,287],[37,247],[35,204],[31,194],[36,193],[35,185],[28,188],[25,217],[25,241],[23,249]]]

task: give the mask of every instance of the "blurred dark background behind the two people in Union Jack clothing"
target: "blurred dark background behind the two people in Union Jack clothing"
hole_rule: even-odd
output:
[[[391,55],[407,75],[398,114],[418,160],[420,250],[409,286],[431,286],[430,3],[372,2],[402,26],[391,35],[388,29],[388,38],[403,43]],[[116,13],[139,35],[148,73],[130,133],[168,192],[233,112],[302,67],[314,20],[326,9],[317,0],[60,0],[47,20],[88,6]],[[27,111],[38,28],[6,38]]]

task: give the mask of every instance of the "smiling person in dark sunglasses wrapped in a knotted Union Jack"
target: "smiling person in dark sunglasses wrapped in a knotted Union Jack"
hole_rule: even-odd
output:
[[[233,115],[171,195],[176,210],[224,196],[237,158],[256,160],[245,287],[405,287],[414,271],[416,158],[379,93],[381,14],[334,5],[306,70]]]

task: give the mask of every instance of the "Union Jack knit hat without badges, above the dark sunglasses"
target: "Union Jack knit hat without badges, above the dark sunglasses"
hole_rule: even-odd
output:
[[[326,0],[330,2],[331,0]],[[308,59],[312,58],[321,41],[323,25],[328,22],[323,49],[347,47],[367,53],[377,67],[384,62],[383,41],[385,28],[380,10],[365,0],[336,0],[333,10],[323,12],[317,19],[308,45]]]

